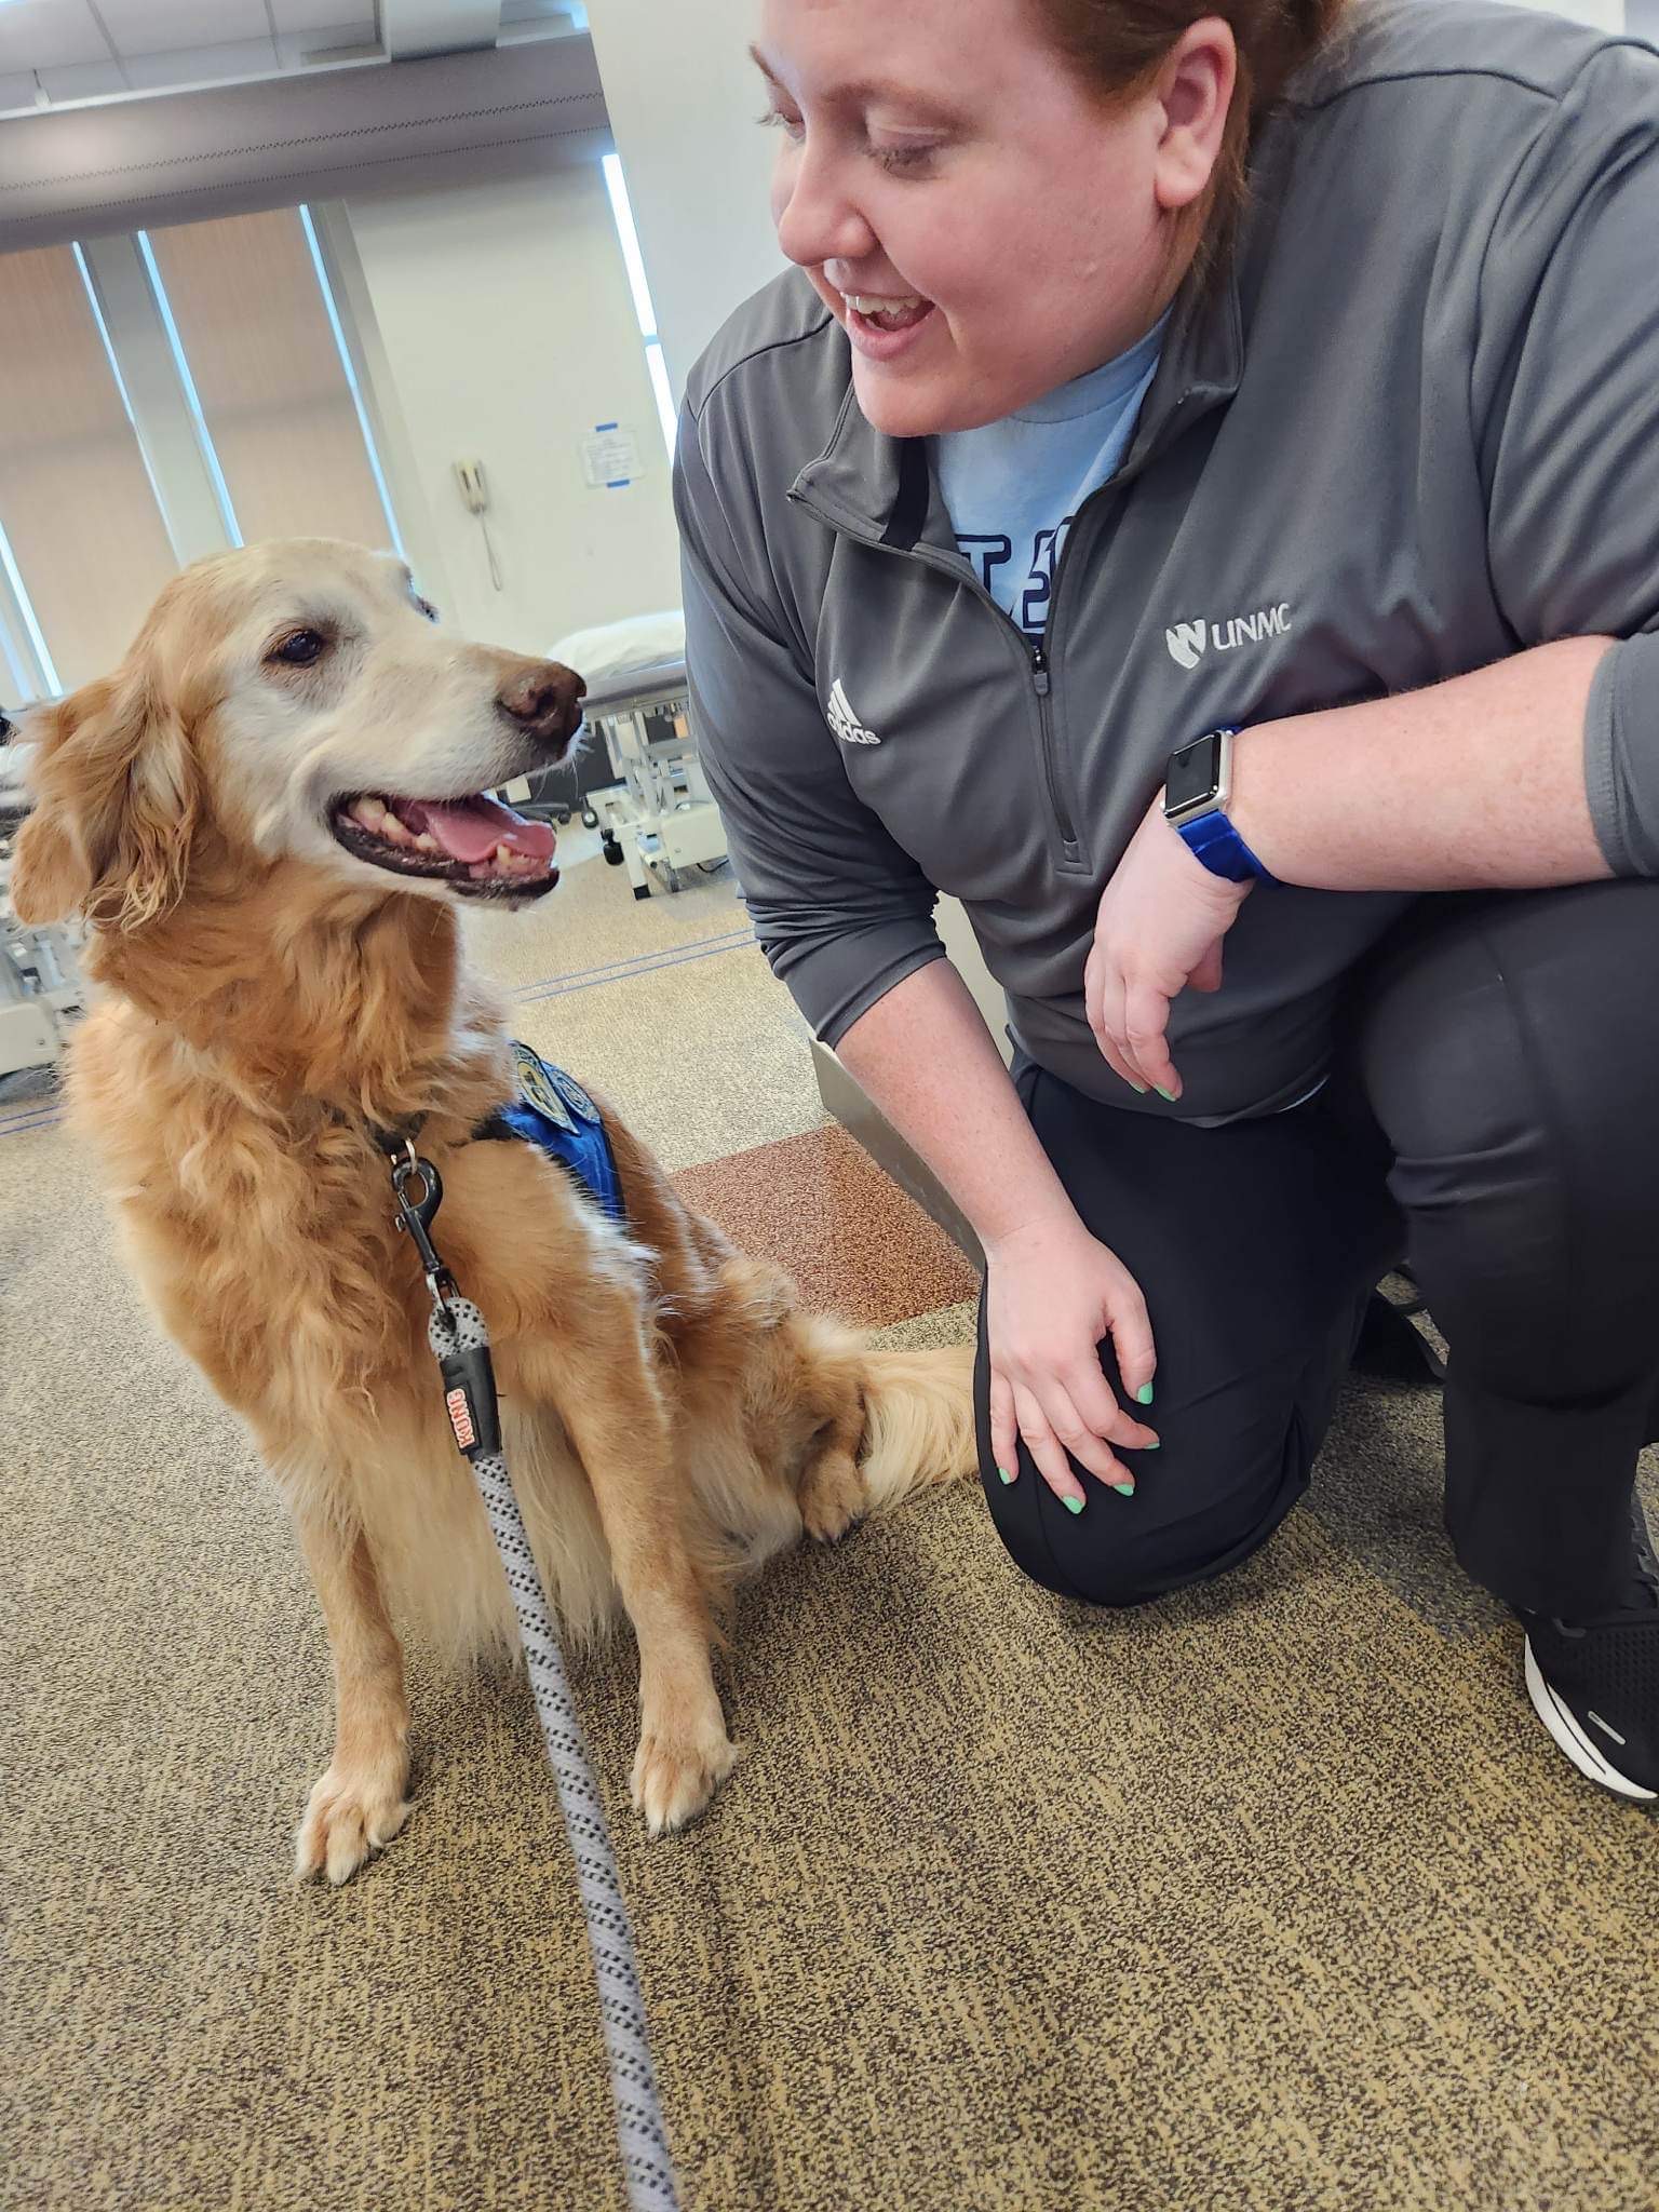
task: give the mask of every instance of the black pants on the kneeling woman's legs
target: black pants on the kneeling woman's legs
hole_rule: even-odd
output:
[[[1002,1542],[1130,1606],[1245,1559],[1307,1489],[1371,1285],[1409,1256],[1449,1343],[1447,1522],[1511,1606],[1635,1601],[1635,1458],[1659,1429],[1659,883],[1425,898],[1354,973],[1307,1106],[1190,1128],[1015,1075],[1157,1340],[1119,1498],[1073,1517],[1024,1447]],[[1110,1343],[1108,1383],[1119,1389]]]

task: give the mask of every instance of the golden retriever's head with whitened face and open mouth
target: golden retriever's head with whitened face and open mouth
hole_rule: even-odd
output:
[[[31,719],[13,905],[135,931],[208,843],[369,891],[540,898],[553,832],[487,792],[566,757],[582,690],[447,635],[387,553],[279,540],[199,562],[115,675]]]

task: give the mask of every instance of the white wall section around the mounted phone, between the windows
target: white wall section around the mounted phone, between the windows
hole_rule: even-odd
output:
[[[467,635],[524,653],[679,604],[668,456],[599,164],[354,199],[347,292],[392,493],[429,588]],[[626,491],[580,438],[633,431]],[[484,462],[504,591],[451,465]]]

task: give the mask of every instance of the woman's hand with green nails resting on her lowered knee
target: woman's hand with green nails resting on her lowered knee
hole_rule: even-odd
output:
[[[1110,1336],[1124,1389],[1150,1405],[1152,1325],[1128,1267],[1075,1214],[1013,1230],[987,1250],[987,1332],[991,1449],[1002,1480],[1015,1480],[1024,1438],[1042,1480],[1073,1513],[1084,1509],[1084,1486],[1066,1453],[1113,1489],[1133,1491],[1135,1475],[1110,1447],[1155,1451],[1157,1436],[1119,1407],[1097,1349]]]

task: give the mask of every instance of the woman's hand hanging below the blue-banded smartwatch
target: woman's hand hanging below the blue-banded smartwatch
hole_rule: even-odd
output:
[[[1088,1026],[1115,1075],[1135,1091],[1179,1099],[1166,1031],[1181,991],[1221,989],[1221,940],[1250,896],[1212,876],[1164,818],[1161,799],[1128,841],[1099,896],[1084,967]]]

